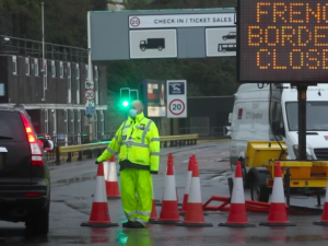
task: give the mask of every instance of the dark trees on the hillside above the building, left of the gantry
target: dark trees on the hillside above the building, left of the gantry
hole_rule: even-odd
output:
[[[45,3],[45,39],[86,47],[86,13],[106,10],[106,0],[0,0],[0,34],[42,39],[42,8]]]

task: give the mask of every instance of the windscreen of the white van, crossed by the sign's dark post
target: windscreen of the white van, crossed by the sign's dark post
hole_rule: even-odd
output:
[[[285,103],[290,131],[298,130],[298,103]],[[328,131],[328,102],[306,102],[306,130]]]

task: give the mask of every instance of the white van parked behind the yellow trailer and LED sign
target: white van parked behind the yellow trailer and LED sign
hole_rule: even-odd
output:
[[[271,94],[271,99],[270,99]],[[270,105],[271,101],[271,107]],[[306,142],[308,160],[328,160],[328,84],[308,86]],[[244,160],[248,141],[276,141],[271,122],[279,121],[276,136],[288,147],[288,159],[297,157],[297,90],[290,84],[242,84],[235,94],[231,122],[231,166]],[[249,181],[249,180],[248,180]],[[251,185],[251,184],[250,184]]]

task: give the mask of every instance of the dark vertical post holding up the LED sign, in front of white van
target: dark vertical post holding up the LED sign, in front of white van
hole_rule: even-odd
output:
[[[298,161],[306,161],[306,91],[307,85],[297,85],[298,94]]]

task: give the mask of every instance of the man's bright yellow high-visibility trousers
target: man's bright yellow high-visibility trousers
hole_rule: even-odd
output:
[[[127,168],[120,172],[121,201],[128,220],[142,224],[149,221],[152,212],[152,176],[147,169]]]

